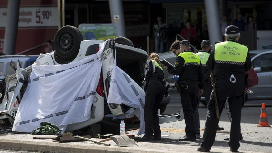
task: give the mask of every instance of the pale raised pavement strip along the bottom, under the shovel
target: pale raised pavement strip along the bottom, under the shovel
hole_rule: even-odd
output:
[[[32,139],[34,136],[52,137],[52,135],[0,134],[0,149],[47,153],[196,153],[198,147],[185,146],[176,140],[165,142],[163,139],[161,141],[136,142],[138,146],[119,148],[112,140],[107,142],[111,146],[105,146],[90,141],[59,143],[48,139]],[[210,152],[230,153],[229,149],[214,147],[212,147]],[[241,150],[239,152],[255,153],[253,151]]]

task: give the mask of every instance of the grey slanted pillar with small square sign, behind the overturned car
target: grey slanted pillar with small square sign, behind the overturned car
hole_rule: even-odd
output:
[[[122,0],[110,0],[109,9],[113,25],[116,27],[116,36],[125,37],[125,17]]]

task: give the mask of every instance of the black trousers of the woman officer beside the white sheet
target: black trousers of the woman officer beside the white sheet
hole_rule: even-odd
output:
[[[160,137],[161,131],[159,126],[158,109],[164,97],[166,87],[163,86],[161,80],[150,80],[147,83],[147,91],[145,95],[145,135]]]

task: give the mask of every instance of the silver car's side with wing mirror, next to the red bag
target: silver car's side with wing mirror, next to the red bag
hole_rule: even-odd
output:
[[[253,57],[252,67],[259,76],[259,84],[250,88],[253,94],[248,94],[248,99],[272,99],[272,51]]]

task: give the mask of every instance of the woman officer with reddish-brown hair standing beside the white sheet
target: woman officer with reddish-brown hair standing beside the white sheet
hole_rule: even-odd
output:
[[[151,53],[148,59],[145,64],[145,80],[147,81],[144,106],[145,135],[140,138],[140,141],[161,140],[158,109],[166,91],[159,55]]]

